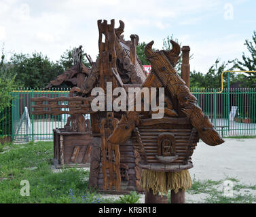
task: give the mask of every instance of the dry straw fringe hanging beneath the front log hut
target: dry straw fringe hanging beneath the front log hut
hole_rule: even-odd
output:
[[[179,172],[156,172],[151,170],[143,170],[141,174],[141,186],[149,191],[153,190],[153,195],[158,192],[167,194],[168,190],[178,193],[179,189],[191,189],[192,182],[188,170]]]

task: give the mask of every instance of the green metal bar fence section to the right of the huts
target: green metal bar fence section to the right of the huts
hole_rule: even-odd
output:
[[[256,88],[191,92],[222,136],[256,135]]]

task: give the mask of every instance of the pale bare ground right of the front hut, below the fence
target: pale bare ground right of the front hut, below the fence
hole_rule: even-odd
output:
[[[256,184],[256,139],[225,138],[219,146],[198,142],[192,156],[191,178],[221,180],[227,176]]]

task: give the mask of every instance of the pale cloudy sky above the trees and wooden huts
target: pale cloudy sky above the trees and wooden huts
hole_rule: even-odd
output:
[[[167,35],[189,45],[191,69],[206,73],[216,58],[240,58],[245,39],[256,31],[255,1],[234,0],[0,0],[0,43],[5,53],[42,52],[58,60],[70,47],[83,45],[98,54],[97,20],[126,24],[125,39],[155,41]],[[0,46],[1,46],[0,45]]]

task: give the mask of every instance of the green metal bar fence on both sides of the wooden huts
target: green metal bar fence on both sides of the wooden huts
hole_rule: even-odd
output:
[[[191,89],[202,110],[222,136],[256,135],[256,89]],[[0,140],[52,140],[68,115],[31,115],[31,98],[69,96],[67,89],[50,91],[20,88],[12,92],[12,106],[0,113]]]

